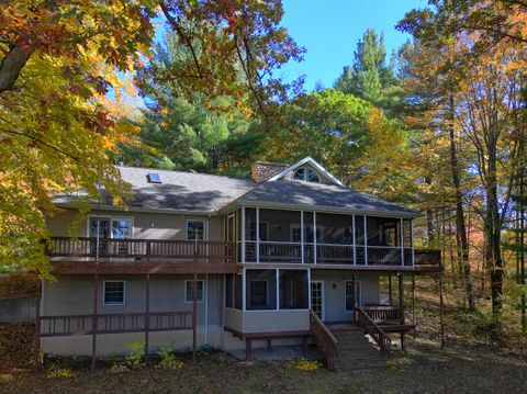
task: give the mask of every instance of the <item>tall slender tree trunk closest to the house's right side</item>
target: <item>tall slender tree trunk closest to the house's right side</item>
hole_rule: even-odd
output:
[[[450,168],[452,175],[452,184],[456,190],[455,201],[456,201],[456,236],[459,240],[458,244],[458,258],[461,263],[463,272],[463,282],[464,282],[464,292],[467,294],[467,301],[469,302],[469,309],[475,309],[474,301],[474,289],[472,283],[472,273],[470,270],[469,262],[469,241],[467,238],[467,228],[464,225],[464,209],[461,193],[461,177],[459,171],[459,161],[458,153],[456,147],[456,135],[453,132],[453,97],[450,95],[450,124],[449,124],[449,136],[450,136]]]

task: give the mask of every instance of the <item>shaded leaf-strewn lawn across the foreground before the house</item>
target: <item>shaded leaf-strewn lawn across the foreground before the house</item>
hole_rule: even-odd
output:
[[[295,369],[291,362],[246,363],[225,353],[200,353],[193,364],[164,370],[155,365],[112,373],[110,364],[90,371],[70,360],[72,376],[2,363],[1,393],[525,393],[527,363],[485,348],[452,347],[408,340],[405,354],[386,362],[385,371],[335,373],[324,368]],[[20,361],[20,360],[19,360]],[[64,363],[61,364],[64,367]]]

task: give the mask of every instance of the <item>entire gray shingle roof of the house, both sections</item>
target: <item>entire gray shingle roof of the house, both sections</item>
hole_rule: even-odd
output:
[[[132,185],[132,209],[215,212],[229,203],[301,205],[355,212],[379,212],[418,216],[418,212],[334,184],[276,180],[256,183],[206,173],[167,171],[136,167],[117,167],[121,177]],[[162,183],[150,183],[149,172],[159,173]],[[56,204],[71,204],[81,191],[54,198]],[[103,191],[104,205],[112,201]],[[85,194],[86,195],[86,194]]]

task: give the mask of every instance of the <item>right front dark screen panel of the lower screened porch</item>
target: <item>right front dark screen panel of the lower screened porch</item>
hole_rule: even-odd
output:
[[[307,270],[280,270],[280,309],[306,309],[307,285]]]

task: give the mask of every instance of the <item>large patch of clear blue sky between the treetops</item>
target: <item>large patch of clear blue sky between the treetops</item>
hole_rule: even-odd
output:
[[[333,86],[344,66],[351,64],[357,42],[368,27],[384,32],[386,53],[410,36],[395,30],[404,14],[427,5],[426,0],[283,0],[282,24],[307,49],[302,63],[283,68],[283,77],[306,76],[305,89],[319,80]]]

